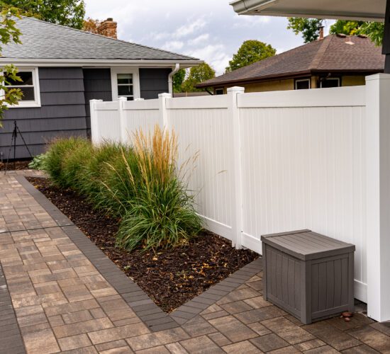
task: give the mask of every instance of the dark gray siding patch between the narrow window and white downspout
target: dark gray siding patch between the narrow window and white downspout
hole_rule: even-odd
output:
[[[140,69],[141,98],[150,100],[159,93],[168,92],[168,75],[171,69]]]

